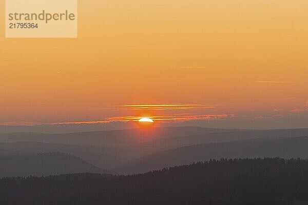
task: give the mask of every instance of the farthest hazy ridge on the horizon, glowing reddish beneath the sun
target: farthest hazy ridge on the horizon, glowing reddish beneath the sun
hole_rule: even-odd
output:
[[[66,145],[121,148],[161,138],[181,137],[225,131],[228,130],[200,127],[153,127],[129,130],[111,130],[62,134],[19,132],[0,134],[0,142],[10,143],[21,141],[34,141]]]

